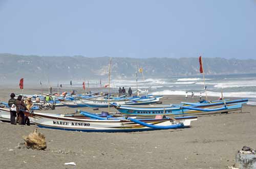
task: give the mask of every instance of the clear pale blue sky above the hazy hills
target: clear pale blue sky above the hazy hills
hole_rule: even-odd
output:
[[[256,1],[0,0],[0,53],[256,59]]]

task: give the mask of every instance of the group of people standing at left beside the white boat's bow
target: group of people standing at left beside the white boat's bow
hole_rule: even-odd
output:
[[[19,125],[30,125],[29,118],[25,116],[22,110],[31,110],[31,108],[33,107],[33,102],[31,101],[31,98],[29,97],[24,101],[22,96],[19,95],[17,99],[15,99],[14,93],[12,93],[10,97],[11,99],[8,101],[8,105],[10,107],[11,124],[16,125],[18,123]]]

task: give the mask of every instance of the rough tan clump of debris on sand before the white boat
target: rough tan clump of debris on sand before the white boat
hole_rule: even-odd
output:
[[[47,147],[45,135],[37,132],[37,129],[35,129],[34,132],[30,133],[28,136],[24,136],[24,140],[27,148],[45,150]]]

